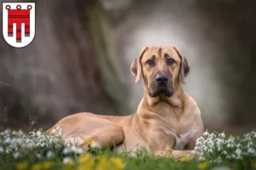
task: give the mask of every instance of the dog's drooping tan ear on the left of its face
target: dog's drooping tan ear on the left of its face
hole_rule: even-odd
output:
[[[142,75],[142,64],[141,64],[141,60],[143,58],[143,54],[147,51],[148,47],[144,47],[142,49],[142,51],[137,55],[137,57],[135,59],[133,59],[132,63],[131,63],[131,74],[136,77],[135,83],[140,82],[141,79],[141,75]]]

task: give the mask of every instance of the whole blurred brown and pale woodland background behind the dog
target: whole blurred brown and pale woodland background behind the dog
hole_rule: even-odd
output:
[[[143,97],[142,83],[134,84],[129,70],[132,59],[143,46],[173,44],[189,60],[185,90],[200,106],[205,127],[251,131],[255,5],[252,0],[36,1],[33,42],[12,48],[0,38],[0,127],[27,129],[33,116],[34,127],[48,128],[82,111],[130,115]]]

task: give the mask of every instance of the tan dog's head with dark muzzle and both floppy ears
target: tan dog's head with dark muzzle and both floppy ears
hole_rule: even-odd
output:
[[[189,63],[173,46],[144,47],[131,63],[136,83],[143,75],[144,86],[151,97],[165,94],[171,97],[174,89],[189,75]]]

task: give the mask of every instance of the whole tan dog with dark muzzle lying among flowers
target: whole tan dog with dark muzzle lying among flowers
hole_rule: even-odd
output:
[[[183,91],[189,64],[176,47],[145,47],[131,64],[136,82],[143,76],[144,96],[131,116],[100,116],[78,113],[67,116],[47,133],[87,147],[86,141],[122,150],[146,149],[154,156],[181,157],[195,147],[203,133],[201,112]],[[183,151],[188,150],[188,151]]]

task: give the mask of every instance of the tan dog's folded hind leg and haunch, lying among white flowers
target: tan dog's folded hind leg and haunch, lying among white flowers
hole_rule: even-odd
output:
[[[67,116],[46,133],[61,135],[66,142],[79,144],[84,148],[88,146],[89,140],[94,141],[91,146],[111,147],[121,143],[124,139],[123,127],[90,114]]]

